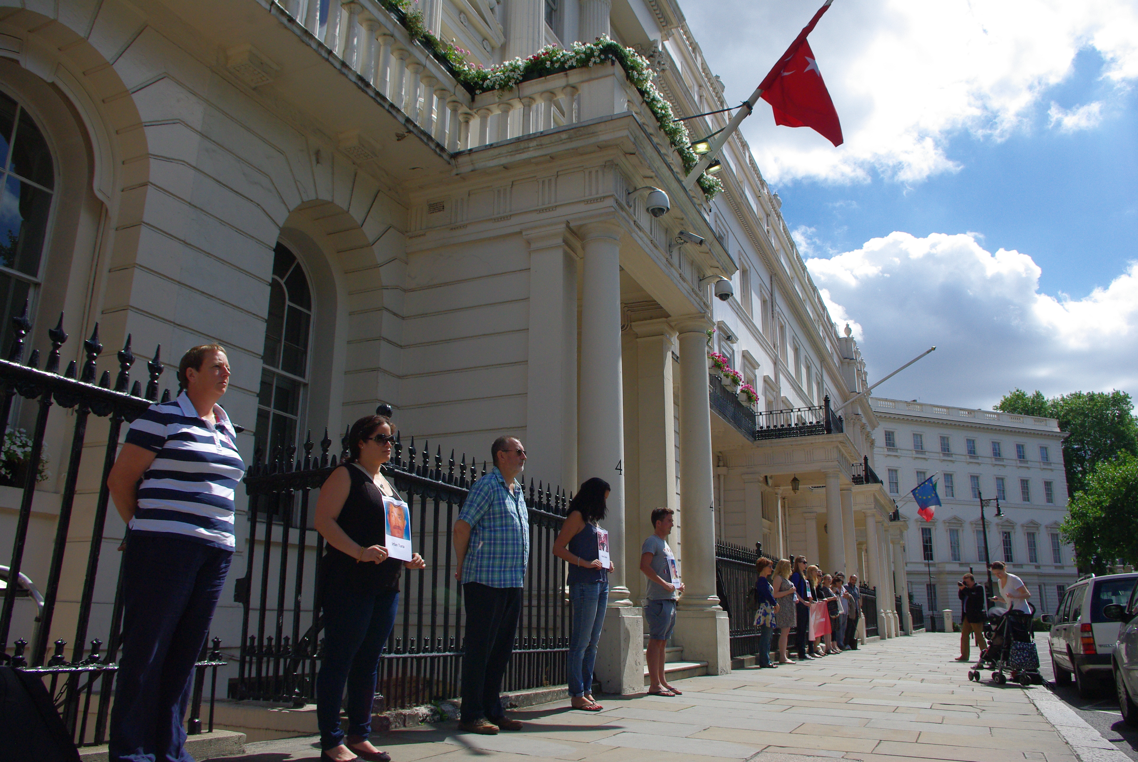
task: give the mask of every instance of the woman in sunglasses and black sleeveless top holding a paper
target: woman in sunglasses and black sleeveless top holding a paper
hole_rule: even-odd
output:
[[[385,535],[388,510],[406,506],[380,467],[391,458],[394,427],[386,416],[364,416],[348,431],[349,457],[320,487],[316,531],[328,542],[321,565],[324,656],[316,677],[320,759],[388,762],[371,735],[372,698],[379,655],[395,625],[399,575],[423,568],[419,554],[409,562],[389,558]],[[347,686],[348,730],[340,729]]]

